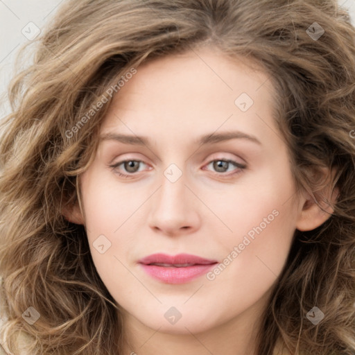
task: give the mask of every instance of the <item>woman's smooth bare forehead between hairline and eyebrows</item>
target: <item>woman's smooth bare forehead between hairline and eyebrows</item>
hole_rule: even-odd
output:
[[[144,62],[115,94],[101,132],[156,128],[186,134],[186,127],[200,132],[223,125],[263,134],[263,121],[274,116],[274,88],[268,74],[252,64],[211,49]]]

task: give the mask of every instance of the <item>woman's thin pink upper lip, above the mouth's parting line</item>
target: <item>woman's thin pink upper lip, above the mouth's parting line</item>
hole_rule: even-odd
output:
[[[192,264],[192,265],[208,265],[217,263],[216,260],[205,259],[192,254],[167,255],[162,253],[151,254],[139,260],[139,263],[149,265],[150,263],[166,263],[170,265]]]

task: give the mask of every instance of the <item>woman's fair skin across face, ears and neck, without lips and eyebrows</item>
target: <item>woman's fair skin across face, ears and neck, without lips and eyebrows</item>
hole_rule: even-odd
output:
[[[83,212],[75,206],[64,215],[85,225],[98,274],[123,309],[123,354],[253,354],[261,312],[295,230],[313,230],[329,218],[309,196],[296,195],[267,80],[243,60],[202,48],[142,64],[114,97],[101,134],[146,136],[151,146],[101,141],[80,175]],[[254,101],[246,112],[234,103],[243,92]],[[201,135],[232,130],[260,144],[194,143]],[[141,163],[110,168],[125,159]],[[214,159],[247,167],[218,170]],[[164,175],[170,164],[182,172],[175,182]],[[278,216],[214,280],[202,275],[164,284],[138,263],[155,252],[223,263],[273,210]],[[101,234],[111,242],[104,254],[93,246]],[[175,324],[164,318],[171,306],[182,315]]]

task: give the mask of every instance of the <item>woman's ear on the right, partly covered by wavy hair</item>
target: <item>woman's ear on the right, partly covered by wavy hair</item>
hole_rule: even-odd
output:
[[[297,218],[297,230],[314,230],[322,225],[328,218],[331,217],[331,214],[334,213],[334,209],[331,205],[336,204],[336,200],[339,195],[338,187],[335,187],[333,191],[331,188],[334,171],[331,171],[330,173],[329,169],[322,168],[321,175],[322,180],[327,180],[327,185],[315,196],[318,200],[318,204],[309,193],[304,193],[301,199],[301,211]]]

